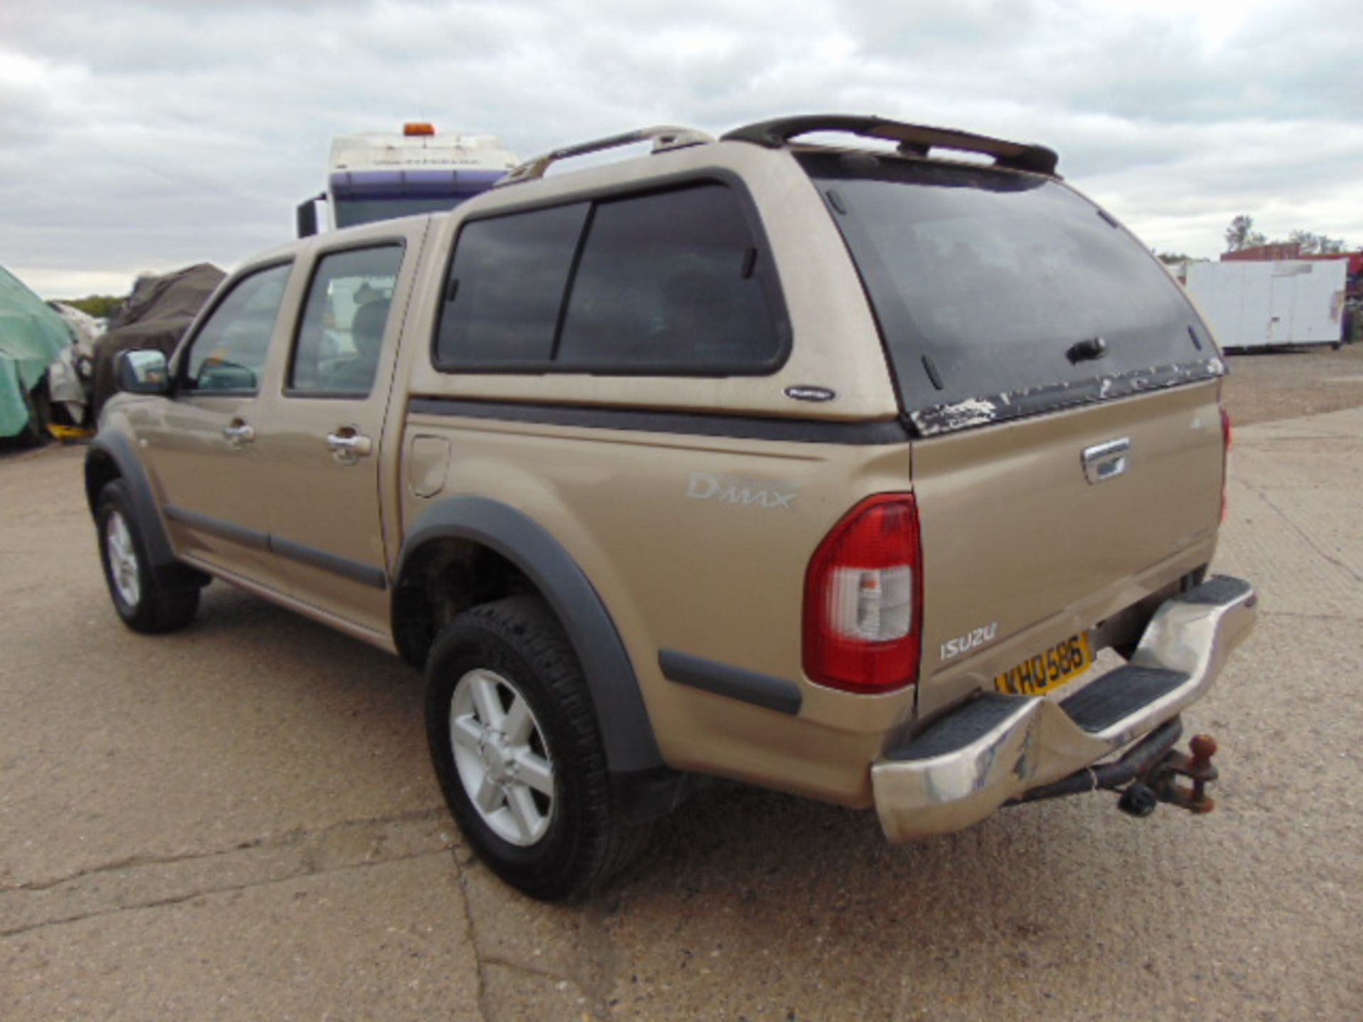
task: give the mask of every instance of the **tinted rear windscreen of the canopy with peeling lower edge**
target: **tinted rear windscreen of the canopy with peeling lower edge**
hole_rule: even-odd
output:
[[[925,433],[1220,375],[1179,285],[1066,185],[990,168],[801,154]]]

